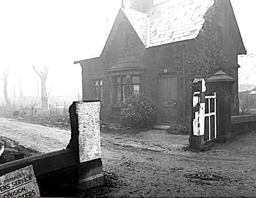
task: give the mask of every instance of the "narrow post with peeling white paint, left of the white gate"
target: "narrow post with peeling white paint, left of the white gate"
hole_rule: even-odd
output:
[[[193,81],[190,149],[200,151],[204,144],[204,111],[205,111],[205,81],[196,78]]]

